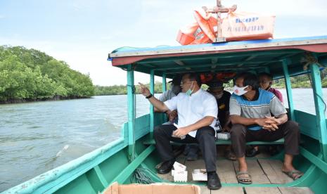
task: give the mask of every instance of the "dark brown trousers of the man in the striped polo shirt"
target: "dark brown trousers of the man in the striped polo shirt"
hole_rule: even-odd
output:
[[[249,141],[277,141],[284,138],[285,153],[298,155],[300,143],[300,128],[297,122],[288,121],[278,125],[276,131],[259,129],[257,131],[247,129],[243,124],[233,124],[231,127],[231,144],[236,157],[245,155],[246,142]]]

